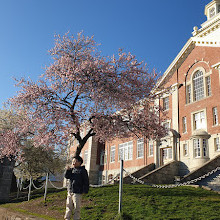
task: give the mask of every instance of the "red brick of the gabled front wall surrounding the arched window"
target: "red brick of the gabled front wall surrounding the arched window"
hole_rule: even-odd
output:
[[[199,61],[199,62],[198,62]],[[220,48],[214,47],[195,47],[191,54],[187,57],[185,62],[179,68],[179,83],[183,83],[183,87],[179,89],[179,105],[180,105],[180,134],[182,135],[181,140],[189,139],[192,134],[191,130],[191,112],[198,111],[200,109],[207,109],[207,128],[208,133],[220,132],[220,127],[213,127],[212,108],[217,107],[220,109],[219,95],[219,71],[212,69],[211,66],[220,61]],[[191,68],[189,68],[191,67]],[[186,81],[189,81],[192,73],[196,68],[203,67],[206,72],[212,70],[211,78],[211,90],[212,95],[206,97],[197,102],[186,104],[186,87],[185,87],[185,74],[188,73]],[[220,113],[220,112],[219,112]],[[182,117],[187,118],[187,133],[182,134]]]

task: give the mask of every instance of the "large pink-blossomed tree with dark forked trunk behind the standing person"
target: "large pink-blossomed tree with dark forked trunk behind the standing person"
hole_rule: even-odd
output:
[[[130,53],[104,57],[97,48],[93,37],[82,33],[58,35],[50,50],[54,62],[40,80],[18,80],[21,90],[11,103],[28,115],[23,126],[34,134],[35,145],[62,146],[74,136],[79,155],[91,136],[106,141],[164,134],[159,108],[151,107],[156,73]]]

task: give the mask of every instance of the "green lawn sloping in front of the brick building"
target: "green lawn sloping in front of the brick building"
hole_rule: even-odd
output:
[[[43,192],[42,192],[43,193]],[[1,205],[44,219],[63,219],[66,191],[50,192],[47,203],[40,192],[29,202]],[[220,220],[220,195],[201,188],[157,189],[143,185],[124,185],[123,213],[118,215],[118,186],[90,188],[83,196],[83,220]]]

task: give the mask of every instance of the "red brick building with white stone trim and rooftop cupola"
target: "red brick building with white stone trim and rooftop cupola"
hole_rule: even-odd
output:
[[[155,100],[167,113],[169,135],[159,142],[130,138],[105,145],[90,138],[82,156],[92,183],[118,174],[120,159],[129,172],[179,161],[184,176],[220,155],[220,0],[207,4],[205,15],[158,82],[172,88]]]

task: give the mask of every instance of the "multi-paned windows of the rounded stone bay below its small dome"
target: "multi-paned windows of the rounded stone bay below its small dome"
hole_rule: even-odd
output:
[[[195,157],[207,157],[207,140],[206,139],[193,139],[194,156]]]

